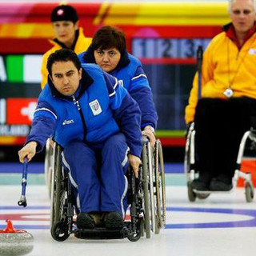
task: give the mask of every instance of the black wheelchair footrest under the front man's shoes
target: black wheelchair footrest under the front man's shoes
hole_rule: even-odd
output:
[[[122,239],[127,237],[128,230],[107,230],[106,228],[94,228],[93,230],[77,229],[74,236],[80,239]]]

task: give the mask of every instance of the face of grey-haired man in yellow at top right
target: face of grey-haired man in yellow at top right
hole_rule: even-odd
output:
[[[255,18],[253,0],[235,0],[231,6],[230,18],[237,33],[250,30]]]

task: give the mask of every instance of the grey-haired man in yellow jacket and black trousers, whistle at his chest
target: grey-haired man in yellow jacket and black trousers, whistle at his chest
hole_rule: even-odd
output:
[[[232,188],[239,142],[256,116],[255,2],[230,0],[229,13],[232,22],[203,54],[201,98],[196,74],[186,106],[196,130],[196,190]]]

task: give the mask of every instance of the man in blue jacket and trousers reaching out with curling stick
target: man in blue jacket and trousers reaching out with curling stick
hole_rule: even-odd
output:
[[[138,176],[142,150],[138,104],[117,78],[94,64],[81,66],[71,50],[51,54],[47,70],[20,161],[30,161],[54,136],[77,191],[78,228],[94,228],[98,212],[107,213],[106,228],[122,228],[128,159]]]

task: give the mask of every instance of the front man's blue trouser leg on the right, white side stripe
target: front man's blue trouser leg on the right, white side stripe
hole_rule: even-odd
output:
[[[121,133],[111,136],[102,148],[101,210],[116,211],[122,218],[125,218],[127,207],[127,152],[126,138]]]

